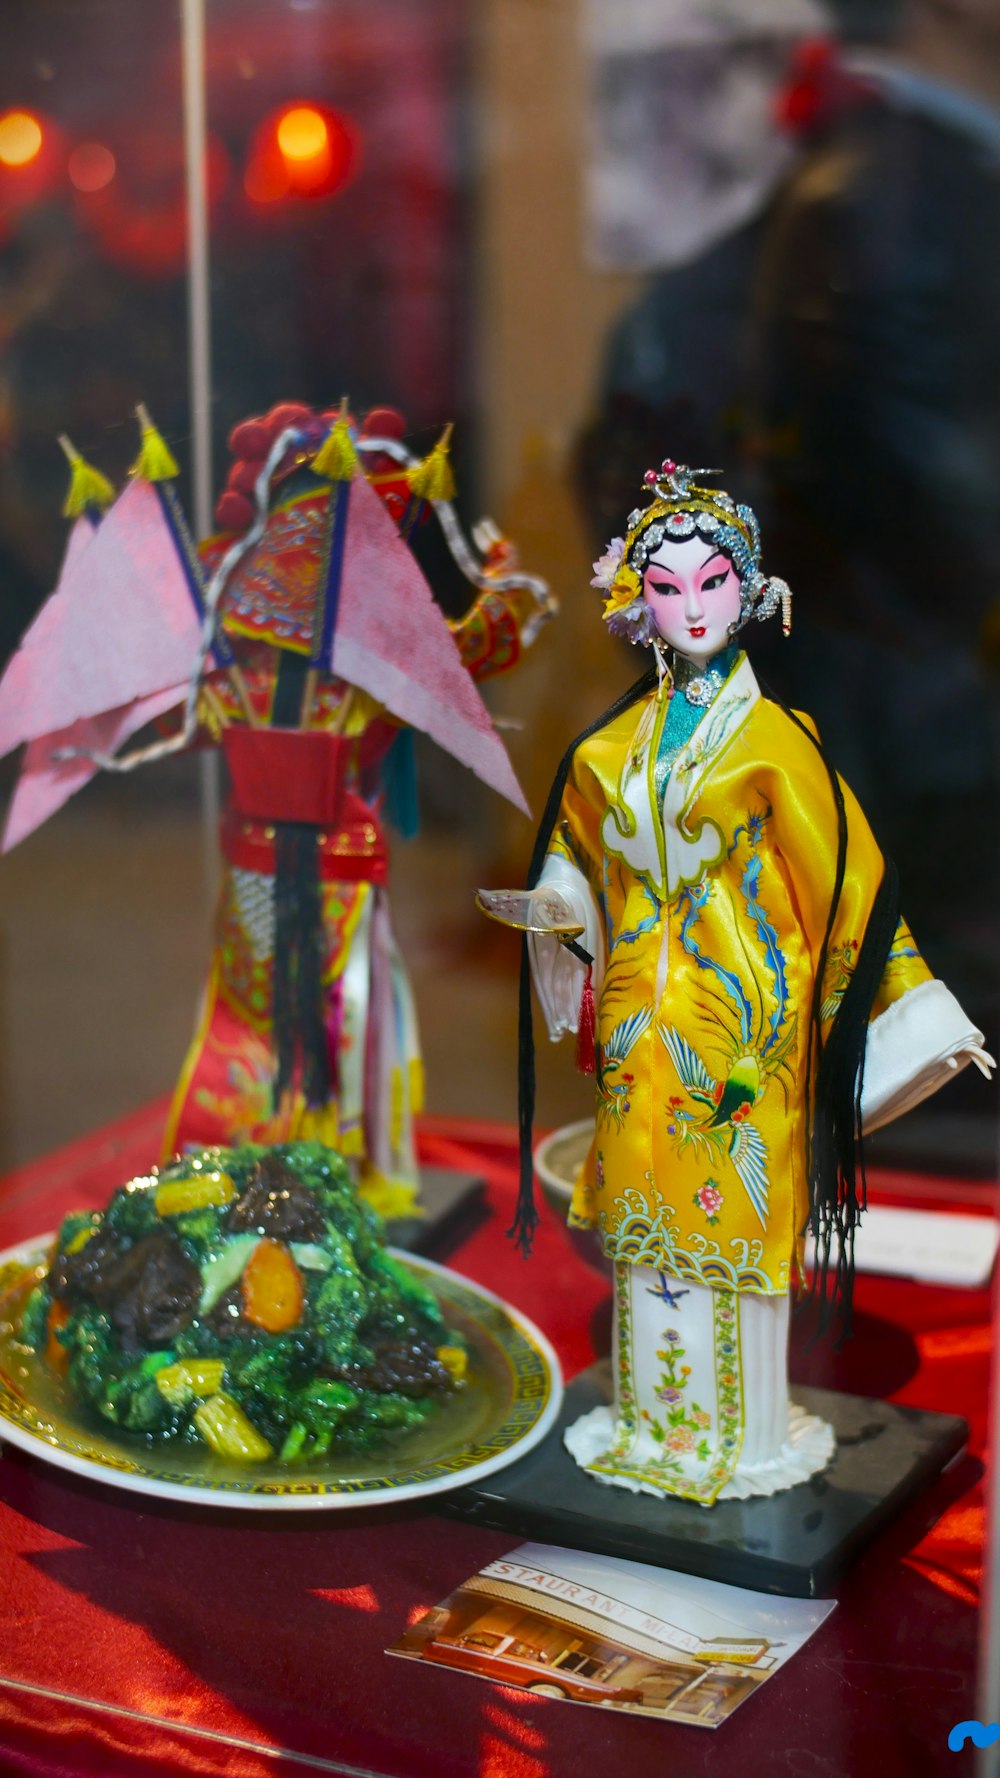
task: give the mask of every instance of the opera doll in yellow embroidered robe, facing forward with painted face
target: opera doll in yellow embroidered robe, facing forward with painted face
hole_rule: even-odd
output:
[[[792,594],[749,507],[665,461],[596,564],[651,670],[568,750],[520,926],[521,1198],[530,1245],[528,948],[550,1037],[596,1005],[594,1143],[569,1220],[614,1262],[614,1406],[566,1444],[601,1483],[717,1499],[824,1469],[788,1399],[792,1293],[849,1325],[859,1138],[991,1058],[899,914],[893,866],[808,717],[762,695],[738,633]]]

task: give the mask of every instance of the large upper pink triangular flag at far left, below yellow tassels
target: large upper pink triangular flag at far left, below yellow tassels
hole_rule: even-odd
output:
[[[201,624],[155,487],[130,482],[91,537],[85,523],[0,681],[0,756],[192,672]]]

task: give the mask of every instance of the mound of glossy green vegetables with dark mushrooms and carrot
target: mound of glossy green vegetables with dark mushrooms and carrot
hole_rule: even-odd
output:
[[[228,1460],[372,1451],[466,1350],[320,1143],[205,1149],[68,1216],[21,1341],[96,1414]]]

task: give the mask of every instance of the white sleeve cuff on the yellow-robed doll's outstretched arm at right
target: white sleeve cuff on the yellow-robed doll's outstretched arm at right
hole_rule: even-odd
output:
[[[968,1063],[968,1047],[982,1044],[943,981],[920,981],[886,1006],[868,1026],[861,1124],[865,1133],[891,1124],[936,1093]],[[954,1058],[956,1065],[948,1067]]]

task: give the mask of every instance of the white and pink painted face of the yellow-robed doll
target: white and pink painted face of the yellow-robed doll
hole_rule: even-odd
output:
[[[662,542],[642,576],[642,597],[664,642],[706,661],[730,642],[740,617],[740,578],[705,537]]]

